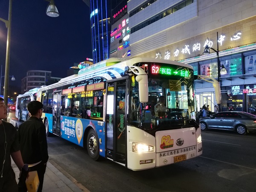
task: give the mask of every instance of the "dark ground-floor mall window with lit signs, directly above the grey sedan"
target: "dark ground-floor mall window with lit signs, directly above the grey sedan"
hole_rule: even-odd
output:
[[[222,111],[243,111],[243,85],[224,87],[221,93]]]

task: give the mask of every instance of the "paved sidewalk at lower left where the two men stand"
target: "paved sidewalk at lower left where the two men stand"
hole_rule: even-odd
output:
[[[11,158],[12,159],[12,158]],[[54,166],[52,165],[54,164]],[[58,167],[58,169],[56,168]],[[16,175],[16,181],[20,170],[12,160],[12,169]],[[54,162],[47,162],[46,172],[44,174],[43,192],[90,192],[84,186],[77,182],[71,175],[65,172]]]

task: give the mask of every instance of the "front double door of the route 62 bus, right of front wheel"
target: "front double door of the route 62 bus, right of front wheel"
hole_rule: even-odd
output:
[[[126,156],[126,80],[108,83],[106,115],[107,157],[124,163]]]

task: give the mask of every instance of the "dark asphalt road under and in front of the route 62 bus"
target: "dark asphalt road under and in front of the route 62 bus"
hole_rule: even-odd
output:
[[[134,172],[53,136],[50,160],[91,192],[256,192],[256,133],[203,131],[203,154],[191,160]]]

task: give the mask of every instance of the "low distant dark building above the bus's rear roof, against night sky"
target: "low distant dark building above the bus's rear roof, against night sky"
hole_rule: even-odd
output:
[[[41,87],[42,85],[49,85],[58,82],[62,78],[52,77],[51,71],[44,70],[29,70],[26,77],[21,79],[21,94],[27,91]]]

